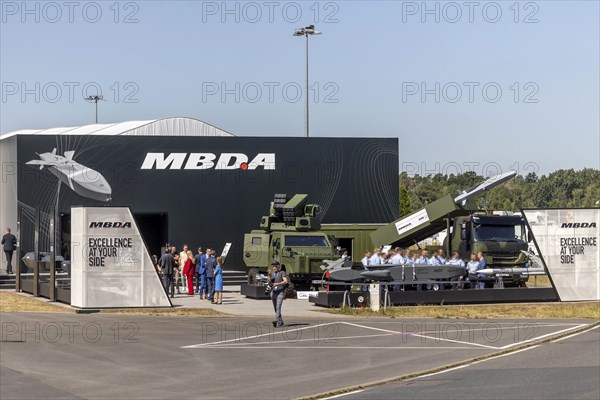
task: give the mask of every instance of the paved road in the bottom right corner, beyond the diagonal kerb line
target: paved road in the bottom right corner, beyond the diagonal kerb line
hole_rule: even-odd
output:
[[[600,329],[341,399],[600,399]]]

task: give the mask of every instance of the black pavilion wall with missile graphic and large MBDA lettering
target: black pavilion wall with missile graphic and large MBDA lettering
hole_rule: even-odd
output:
[[[112,190],[112,201],[102,203],[62,184],[61,212],[70,212],[73,205],[110,204],[129,206],[134,213],[166,213],[169,242],[179,249],[188,243],[192,249],[203,245],[220,251],[232,242],[226,264],[230,269],[244,269],[243,234],[258,227],[275,193],[309,194],[309,202],[321,205],[324,223],[398,218],[397,139],[21,135],[22,208],[50,210],[56,204],[58,178],[47,166],[25,164],[55,148],[59,156],[74,151],[73,160],[89,168],[85,179],[93,182],[101,174]],[[269,153],[274,154],[275,168],[141,169],[147,153],[210,153],[217,159],[223,153],[241,153],[249,161]],[[156,251],[150,249],[151,254]]]

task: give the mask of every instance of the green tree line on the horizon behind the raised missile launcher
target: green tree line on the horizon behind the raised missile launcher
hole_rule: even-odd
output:
[[[469,171],[454,175],[400,174],[400,216],[413,213],[447,194],[457,196],[485,178]],[[530,172],[483,193],[480,209],[519,211],[521,208],[571,208],[600,206],[600,170],[561,169],[550,174]]]

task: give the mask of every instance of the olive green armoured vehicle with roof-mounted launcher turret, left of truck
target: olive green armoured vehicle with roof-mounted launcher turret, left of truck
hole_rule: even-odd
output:
[[[248,284],[256,284],[257,274],[266,273],[278,261],[297,288],[310,287],[323,274],[323,260],[337,257],[334,243],[320,231],[319,206],[308,204],[307,198],[306,194],[291,198],[276,194],[260,229],[244,235]]]

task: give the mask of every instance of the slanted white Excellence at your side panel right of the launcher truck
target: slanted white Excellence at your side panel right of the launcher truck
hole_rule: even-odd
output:
[[[561,301],[600,300],[600,209],[523,210]]]

